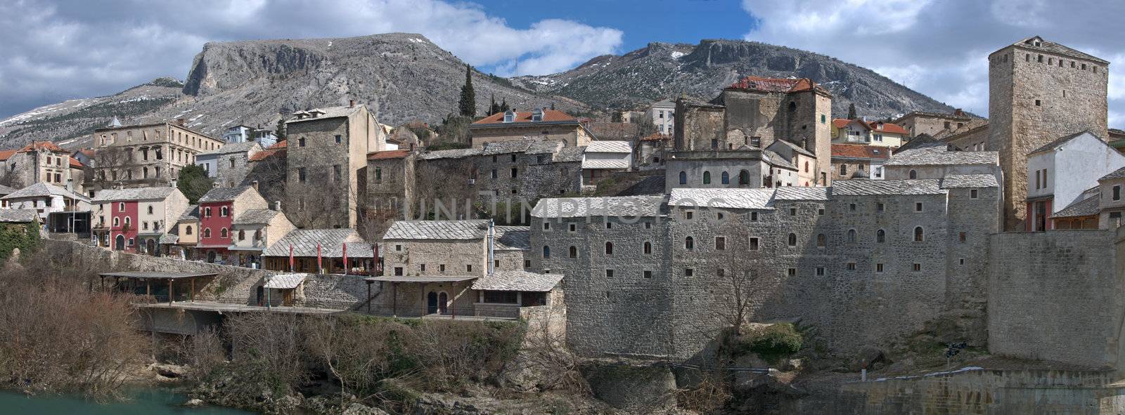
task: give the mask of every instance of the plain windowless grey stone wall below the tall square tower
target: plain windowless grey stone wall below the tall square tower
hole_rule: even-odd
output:
[[[1092,368],[1120,361],[1125,281],[1112,231],[991,236],[989,351]]]

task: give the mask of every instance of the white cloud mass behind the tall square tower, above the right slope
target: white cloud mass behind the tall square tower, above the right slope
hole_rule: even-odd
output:
[[[872,69],[980,115],[988,114],[988,54],[1040,35],[1110,61],[1110,127],[1125,123],[1125,37],[1106,16],[1125,2],[1072,0],[744,0],[746,39],[802,48]]]

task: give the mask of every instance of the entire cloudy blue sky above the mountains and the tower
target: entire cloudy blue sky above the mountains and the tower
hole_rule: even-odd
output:
[[[0,0],[0,118],[183,79],[206,42],[421,33],[498,75],[566,71],[649,42],[757,40],[874,70],[988,115],[989,53],[1025,37],[1110,64],[1125,127],[1125,1],[1107,0]]]

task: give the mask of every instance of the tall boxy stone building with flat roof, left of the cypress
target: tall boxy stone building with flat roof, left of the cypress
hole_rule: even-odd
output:
[[[294,112],[286,121],[285,213],[297,227],[354,227],[367,155],[388,148],[366,105]]]

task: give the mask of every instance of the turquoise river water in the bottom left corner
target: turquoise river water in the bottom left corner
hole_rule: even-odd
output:
[[[90,415],[246,415],[244,411],[180,406],[187,396],[168,389],[141,389],[129,394],[125,402],[99,404],[82,397],[68,395],[26,396],[19,393],[0,391],[0,414],[90,414]]]

